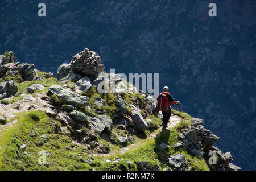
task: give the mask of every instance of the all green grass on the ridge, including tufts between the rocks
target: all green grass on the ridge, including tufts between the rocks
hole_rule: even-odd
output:
[[[55,78],[49,78],[41,81],[25,81],[18,84],[18,93],[17,96],[13,98],[13,102],[16,102],[20,97],[20,94],[27,93],[27,86],[32,84],[43,84],[46,88],[38,92],[47,92],[49,86],[57,84]],[[68,83],[68,85],[73,83]],[[34,93],[34,94],[35,94]],[[103,109],[106,110],[106,114],[112,115],[117,107],[114,104],[114,96],[112,94],[100,95],[96,92],[95,89],[91,89],[84,95],[90,97],[90,103],[92,110],[81,110],[85,114],[90,114],[97,117],[97,114],[94,113],[95,110],[101,110],[94,104],[95,98],[98,96],[104,98],[107,105],[103,106]],[[143,97],[139,94],[121,94],[123,99],[127,103],[133,104],[130,98],[137,98],[138,100],[143,101]],[[129,110],[129,107],[127,108]],[[179,127],[188,127],[190,122],[190,117],[187,113],[180,113],[176,110],[172,110],[173,114],[179,115],[183,118],[183,123],[179,124],[175,129],[170,129],[163,131],[155,139],[144,139],[143,146],[138,148],[131,148],[125,154],[114,154],[109,157],[109,159],[119,159],[119,163],[106,163],[106,160],[102,157],[93,157],[90,156],[90,152],[86,150],[85,147],[80,144],[72,143],[71,137],[64,135],[62,133],[55,133],[56,125],[60,125],[58,121],[50,119],[43,111],[31,111],[29,113],[20,113],[18,117],[18,122],[15,123],[15,126],[11,127],[5,134],[2,135],[0,139],[1,153],[0,153],[0,169],[1,170],[107,170],[114,169],[118,170],[120,167],[135,170],[136,162],[139,161],[148,161],[154,167],[155,164],[160,166],[160,169],[167,168],[164,164],[166,163],[168,156],[174,155],[176,153],[183,153],[188,160],[188,166],[191,166],[193,170],[209,170],[205,160],[203,158],[197,158],[191,156],[187,151],[183,149],[175,149],[173,146],[175,143],[179,142],[177,139],[178,133],[177,130]],[[144,111],[142,110],[144,115]],[[154,129],[158,129],[161,121],[156,115],[147,115],[147,118],[151,119],[154,123]],[[31,137],[30,134],[34,131],[36,137]],[[118,128],[113,128],[115,133],[120,135],[126,134],[126,130],[118,130]],[[144,135],[146,136],[150,131],[146,131]],[[46,134],[48,136],[48,141],[44,142],[44,139],[40,135]],[[145,137],[143,136],[143,137]],[[135,137],[138,140],[138,137]],[[112,150],[117,150],[121,147],[120,144],[105,142],[102,139],[98,139],[100,142],[109,146]],[[39,141],[43,142],[43,146],[39,146]],[[166,143],[170,148],[166,150],[161,150],[159,148],[160,143]],[[26,150],[28,155],[20,151],[20,145],[26,144]],[[130,144],[130,143],[129,143]],[[50,156],[47,156],[48,165],[39,165],[38,152],[45,150],[49,152]],[[86,159],[92,159],[93,163],[86,163]],[[134,164],[129,167],[127,160],[133,162]]]

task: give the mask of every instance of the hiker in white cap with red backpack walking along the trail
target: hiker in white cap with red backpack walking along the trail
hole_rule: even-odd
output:
[[[171,117],[171,103],[180,104],[180,101],[175,101],[169,93],[169,88],[164,86],[163,92],[158,96],[158,109],[163,114],[163,129],[167,128],[167,123]]]

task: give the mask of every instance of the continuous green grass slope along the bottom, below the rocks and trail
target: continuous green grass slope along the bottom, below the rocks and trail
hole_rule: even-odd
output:
[[[39,118],[38,121],[35,120]],[[32,119],[34,118],[34,119]],[[139,161],[148,161],[152,166],[158,164],[160,169],[167,168],[164,163],[168,156],[177,153],[183,153],[188,160],[188,166],[193,170],[209,170],[203,158],[191,156],[183,149],[175,149],[173,146],[179,142],[177,139],[177,129],[162,131],[154,140],[148,140],[142,147],[134,148],[122,155],[112,155],[109,159],[121,159],[119,163],[106,163],[101,157],[89,156],[89,151],[79,144],[73,144],[72,139],[61,133],[55,133],[56,121],[48,118],[42,111],[32,111],[27,114],[20,114],[17,119],[18,123],[7,131],[0,140],[3,147],[1,150],[1,170],[106,170],[119,169],[124,166],[126,169],[136,169],[135,164],[128,167],[127,160],[136,163]],[[36,137],[30,137],[34,131]],[[49,138],[48,142],[43,146],[38,146],[38,141],[44,142],[40,135],[46,134]],[[170,148],[161,150],[160,143],[166,143]],[[26,144],[25,155],[19,150],[20,145]],[[67,149],[68,148],[68,149]],[[39,165],[39,151],[46,150],[51,156],[47,157],[49,165]],[[88,164],[86,159],[92,159],[94,163]]]

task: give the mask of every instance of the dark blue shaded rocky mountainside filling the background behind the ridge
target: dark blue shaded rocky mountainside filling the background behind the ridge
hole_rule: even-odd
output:
[[[159,73],[217,146],[255,169],[255,1],[215,1],[213,18],[211,2],[45,1],[39,18],[36,2],[1,1],[0,52],[56,74],[86,45],[107,71]]]

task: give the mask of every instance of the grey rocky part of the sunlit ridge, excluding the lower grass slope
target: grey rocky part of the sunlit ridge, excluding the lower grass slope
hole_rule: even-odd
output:
[[[158,114],[155,109],[156,100],[147,93],[134,87],[129,90],[137,90],[136,93],[97,93],[97,85],[102,81],[114,80],[116,89],[124,81],[120,75],[104,72],[100,56],[88,48],[73,56],[71,63],[60,65],[58,80],[52,78],[52,73],[38,72],[34,65],[19,64],[13,52],[0,57],[0,78],[3,81],[0,83],[0,114],[4,114],[1,116],[2,123],[15,118],[13,114],[20,111],[43,110],[53,121],[60,122],[59,125],[55,124],[55,133],[67,135],[73,143],[97,154],[111,152],[111,147],[105,142],[124,147],[136,143],[141,135],[147,138],[147,132],[161,130],[161,113]],[[52,80],[44,81],[47,79]],[[18,88],[26,81],[34,81],[34,84],[25,88],[27,93],[17,95],[20,91]],[[224,153],[214,147],[219,137],[204,128],[202,119],[186,118],[184,113],[173,112],[184,122],[175,124],[177,141],[173,146],[167,142],[156,146],[160,150],[175,148],[176,153],[164,159],[163,165],[168,170],[193,169],[189,159],[180,150],[208,161],[212,170],[241,170],[232,163],[230,152]],[[165,135],[164,132],[161,134]],[[22,152],[26,151],[26,144],[20,147]],[[133,166],[133,162],[129,161],[127,165]],[[153,165],[147,161],[136,162],[136,169],[139,170],[160,168],[163,169],[159,163]],[[119,169],[123,169],[123,166],[119,166]]]

